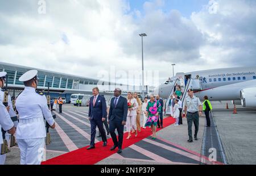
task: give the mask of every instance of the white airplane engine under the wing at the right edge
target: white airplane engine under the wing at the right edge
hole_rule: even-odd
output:
[[[240,95],[243,107],[256,107],[256,87],[243,89]]]

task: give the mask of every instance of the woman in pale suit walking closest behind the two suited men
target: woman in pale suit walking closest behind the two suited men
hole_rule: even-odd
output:
[[[135,137],[137,137],[137,125],[136,125],[136,117],[137,117],[137,109],[139,104],[135,98],[133,98],[133,93],[127,93],[127,104],[128,104],[128,113],[126,120],[126,130],[128,132],[128,137],[126,139],[130,139],[131,137],[131,129],[135,131]],[[130,105],[130,106],[129,106]]]

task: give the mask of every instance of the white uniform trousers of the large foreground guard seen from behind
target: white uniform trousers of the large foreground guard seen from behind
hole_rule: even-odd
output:
[[[40,165],[44,157],[45,138],[16,139],[20,149],[21,165]]]

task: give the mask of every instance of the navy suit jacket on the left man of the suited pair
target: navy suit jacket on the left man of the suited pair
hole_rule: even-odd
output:
[[[106,112],[106,100],[101,95],[98,95],[95,106],[93,106],[94,97],[90,98],[89,113],[88,116],[94,120],[101,120],[107,117]]]

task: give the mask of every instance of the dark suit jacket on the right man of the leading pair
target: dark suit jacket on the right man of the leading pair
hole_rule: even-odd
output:
[[[127,99],[120,96],[117,102],[117,107],[114,104],[115,97],[111,99],[110,108],[109,108],[109,120],[118,120],[118,121],[126,121],[128,105]]]

